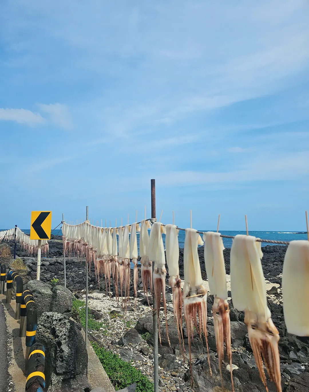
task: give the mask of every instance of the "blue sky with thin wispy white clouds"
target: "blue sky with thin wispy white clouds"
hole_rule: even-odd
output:
[[[134,221],[305,230],[309,4],[0,4],[0,227]]]

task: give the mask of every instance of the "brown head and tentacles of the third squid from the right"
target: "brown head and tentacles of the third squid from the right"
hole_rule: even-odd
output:
[[[219,359],[219,370],[222,390],[223,379],[221,365],[224,358],[224,342],[226,347],[226,355],[229,359],[229,367],[231,372],[232,391],[234,392],[233,374],[232,374],[232,351],[231,351],[231,324],[229,320],[229,304],[226,299],[214,298],[213,301],[213,326],[215,329],[216,347]]]

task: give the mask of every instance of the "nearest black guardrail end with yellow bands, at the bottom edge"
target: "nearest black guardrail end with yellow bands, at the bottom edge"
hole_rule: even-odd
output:
[[[43,392],[45,388],[45,349],[43,345],[34,343],[28,357],[28,371],[26,373],[27,392]]]

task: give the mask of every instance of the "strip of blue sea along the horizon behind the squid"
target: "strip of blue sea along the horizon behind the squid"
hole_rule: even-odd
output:
[[[0,229],[5,230],[5,229]],[[30,234],[30,229],[23,229],[22,230],[26,234]],[[208,231],[208,230],[198,230],[198,231]],[[226,236],[236,236],[237,234],[246,234],[245,231],[229,231],[229,230],[222,230],[220,231],[222,235]],[[62,236],[61,229],[56,229],[52,231],[52,234]],[[276,240],[276,241],[294,241],[294,240],[307,240],[307,232],[297,232],[297,231],[249,231],[250,236],[255,236],[257,238],[261,238],[263,240]],[[163,243],[165,247],[165,235],[162,235]],[[222,238],[223,245],[225,248],[230,248],[232,246],[232,239],[231,238]],[[184,231],[180,230],[178,234],[178,242],[179,247],[184,247]],[[269,244],[263,243],[262,246],[266,245],[276,245],[276,244]],[[137,247],[139,248],[139,233],[137,233]]]

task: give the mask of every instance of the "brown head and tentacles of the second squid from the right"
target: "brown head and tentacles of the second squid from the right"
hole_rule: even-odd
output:
[[[269,379],[275,384],[277,391],[281,389],[280,357],[278,350],[279,332],[271,318],[257,316],[253,312],[245,312],[245,323],[260,378],[268,392],[263,361]],[[262,361],[263,359],[263,361]]]

